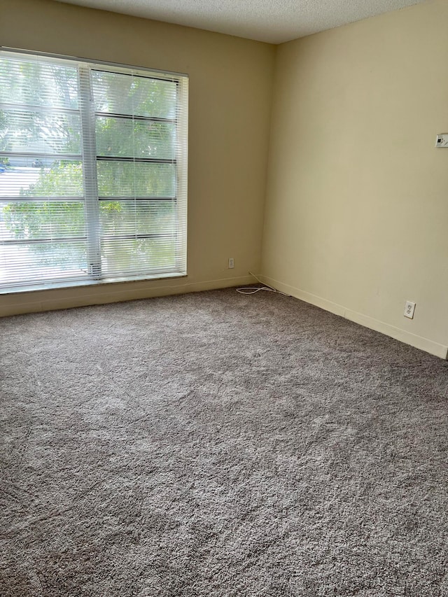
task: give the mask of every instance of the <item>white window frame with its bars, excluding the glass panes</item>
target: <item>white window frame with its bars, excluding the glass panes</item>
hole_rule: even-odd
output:
[[[187,275],[187,190],[188,190],[188,75],[185,73],[174,73],[172,71],[161,71],[158,69],[149,69],[143,66],[130,66],[126,64],[117,64],[114,62],[105,62],[92,59],[70,57],[65,55],[50,54],[46,52],[33,52],[29,50],[18,50],[15,48],[6,48],[0,46],[2,54],[5,52],[8,55],[22,55],[32,57],[33,59],[42,58],[43,61],[54,62],[55,64],[71,64],[74,65],[78,73],[78,109],[59,108],[60,113],[78,113],[80,116],[80,132],[81,132],[81,154],[49,154],[49,153],[29,153],[28,157],[34,160],[41,160],[50,155],[52,159],[66,159],[79,160],[83,168],[83,197],[63,197],[65,201],[82,202],[85,211],[85,241],[87,243],[87,272],[85,276],[79,276],[78,279],[61,279],[50,280],[34,280],[25,281],[24,283],[13,283],[10,285],[0,284],[0,294],[25,292],[27,290],[46,290],[50,288],[66,288],[71,286],[90,286],[104,283],[116,283],[124,281],[140,281],[140,280],[155,280],[164,278],[177,278]],[[20,58],[19,58],[20,59]],[[141,76],[150,80],[167,80],[171,83],[176,83],[176,114],[175,118],[158,118],[156,116],[136,116],[120,113],[107,113],[95,110],[92,77],[91,73],[94,71],[104,71],[113,74],[125,74],[131,76]],[[0,109],[4,109],[6,103],[0,103]],[[31,104],[23,104],[24,109]],[[51,111],[51,107],[39,106],[41,111]],[[95,127],[97,118],[123,118],[130,119],[132,122],[136,120],[141,122],[172,122],[176,127],[176,155],[174,159],[165,159],[158,157],[119,157],[119,156],[105,156],[99,155],[97,152],[97,145],[95,139]],[[17,156],[14,152],[0,151],[0,157]],[[25,154],[21,154],[22,156]],[[114,197],[114,196],[100,196],[98,191],[98,169],[99,162],[132,162],[132,163],[169,163],[174,164],[175,170],[175,195],[174,197]],[[3,197],[0,197],[2,201]],[[6,197],[6,201],[10,199],[18,200],[20,202],[36,201],[55,201],[58,197]],[[116,201],[117,199],[130,199],[134,201],[171,201],[176,206],[174,213],[176,214],[176,226],[173,228],[176,232],[176,250],[174,252],[173,265],[169,267],[153,267],[147,269],[144,273],[125,274],[123,276],[114,275],[107,276],[101,273],[101,223],[99,216],[99,207],[101,202]],[[3,199],[4,200],[4,199]],[[144,239],[149,237],[158,237],[162,234],[141,234],[135,232],[132,234],[133,239]],[[113,239],[123,239],[123,235],[117,235]],[[39,239],[36,240],[36,242]],[[42,240],[44,241],[44,240]],[[59,237],[57,241],[71,241],[73,239]],[[3,245],[0,237],[0,247]],[[10,244],[26,243],[27,240],[7,241]]]

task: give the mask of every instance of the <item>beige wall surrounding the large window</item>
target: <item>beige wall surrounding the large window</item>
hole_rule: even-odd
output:
[[[0,0],[0,44],[190,75],[187,278],[0,295],[0,314],[251,280],[248,270],[260,267],[273,45],[50,0]]]

